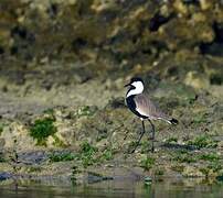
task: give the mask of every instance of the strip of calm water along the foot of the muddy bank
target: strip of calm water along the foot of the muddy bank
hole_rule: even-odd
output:
[[[74,185],[66,182],[18,182],[1,184],[0,198],[222,198],[223,183],[206,183],[201,179],[153,182],[107,180],[95,184]]]

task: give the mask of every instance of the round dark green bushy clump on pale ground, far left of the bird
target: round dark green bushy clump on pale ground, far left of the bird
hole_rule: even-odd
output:
[[[38,145],[45,145],[46,139],[56,132],[56,128],[53,125],[54,119],[44,118],[35,120],[34,124],[30,129],[30,135],[38,140]]]

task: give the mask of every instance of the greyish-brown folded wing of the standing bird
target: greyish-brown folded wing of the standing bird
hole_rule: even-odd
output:
[[[155,103],[144,94],[135,97],[136,110],[150,119],[168,120],[168,117],[155,106]]]

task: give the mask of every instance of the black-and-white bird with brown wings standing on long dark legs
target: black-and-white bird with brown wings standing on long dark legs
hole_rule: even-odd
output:
[[[145,82],[140,77],[134,77],[130,79],[130,82],[125,85],[128,87],[126,94],[126,105],[128,109],[135,113],[141,120],[142,124],[142,132],[139,135],[139,139],[136,143],[135,148],[131,153],[136,151],[138,147],[141,138],[145,134],[145,120],[148,120],[151,125],[151,152],[155,152],[155,124],[152,123],[153,120],[162,120],[169,124],[178,124],[178,120],[167,116],[162,112],[149,98],[149,96],[145,92]]]

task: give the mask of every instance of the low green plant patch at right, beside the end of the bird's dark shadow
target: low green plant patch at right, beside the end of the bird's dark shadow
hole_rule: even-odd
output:
[[[194,140],[188,141],[187,144],[195,146],[197,148],[217,146],[217,142],[212,140],[210,135],[197,136]]]

